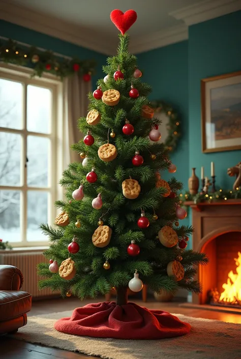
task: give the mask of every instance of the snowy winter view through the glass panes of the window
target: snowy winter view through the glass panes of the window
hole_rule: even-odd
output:
[[[24,132],[23,89],[20,82],[0,78],[0,127],[4,129],[1,131],[0,128],[0,238],[10,242],[22,240],[23,218],[26,218],[26,240],[43,240],[39,224],[48,219],[51,151],[48,134],[51,133],[52,93],[46,88],[27,85]],[[27,190],[25,216],[22,190],[24,179]],[[16,190],[13,187],[17,187]]]

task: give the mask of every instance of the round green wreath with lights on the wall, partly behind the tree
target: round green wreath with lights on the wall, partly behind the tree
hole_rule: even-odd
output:
[[[164,101],[151,101],[150,106],[157,113],[164,113],[169,118],[166,126],[168,130],[168,136],[165,140],[165,146],[170,152],[173,152],[177,146],[178,138],[180,137],[180,119],[176,111],[172,106]]]

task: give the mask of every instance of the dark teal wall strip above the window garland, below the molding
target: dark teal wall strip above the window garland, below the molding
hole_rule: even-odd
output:
[[[105,65],[106,56],[99,52],[89,50],[85,47],[74,45],[37,31],[29,30],[26,27],[15,25],[11,22],[0,20],[0,36],[21,41],[26,44],[42,47],[46,50],[61,53],[71,58],[78,57],[81,60],[93,59],[97,62],[96,74],[92,77],[93,89],[96,87],[96,81],[103,77],[102,66]],[[116,42],[117,44],[117,42]]]

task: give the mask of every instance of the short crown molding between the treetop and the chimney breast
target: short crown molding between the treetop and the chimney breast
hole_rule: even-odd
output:
[[[129,50],[132,53],[140,53],[187,39],[188,27],[185,24],[171,26],[168,29],[131,39]]]

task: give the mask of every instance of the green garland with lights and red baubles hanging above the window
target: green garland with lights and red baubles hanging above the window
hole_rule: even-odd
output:
[[[55,56],[51,51],[21,46],[18,42],[10,39],[0,43],[0,61],[32,67],[34,69],[33,76],[39,77],[44,71],[61,78],[78,72],[83,76],[84,81],[91,80],[96,66],[94,60],[63,59]]]

